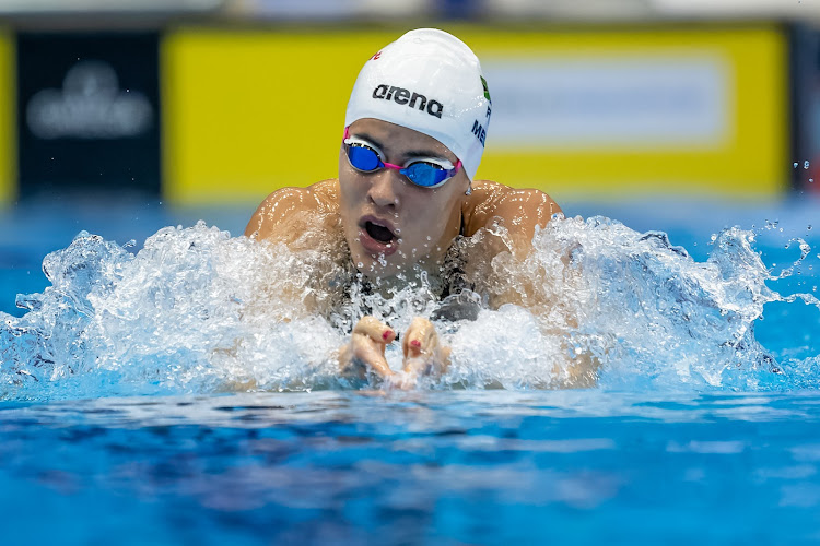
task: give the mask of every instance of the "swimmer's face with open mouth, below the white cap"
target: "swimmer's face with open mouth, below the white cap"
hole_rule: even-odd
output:
[[[374,144],[384,161],[405,165],[414,157],[435,157],[452,164],[447,146],[426,134],[387,121],[360,119],[350,135]],[[440,264],[461,223],[461,205],[469,179],[459,169],[444,186],[415,186],[395,169],[360,173],[339,154],[339,210],[344,238],[359,270],[367,276],[391,276],[414,264],[430,270]]]

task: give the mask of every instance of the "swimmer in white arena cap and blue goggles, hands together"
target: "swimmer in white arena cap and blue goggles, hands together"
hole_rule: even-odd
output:
[[[338,178],[271,193],[248,222],[245,235],[300,250],[306,217],[325,241],[347,246],[345,256],[364,278],[386,290],[413,276],[447,284],[444,263],[458,236],[493,230],[473,261],[489,263],[502,251],[517,258],[531,248],[536,226],[561,209],[547,194],[477,180],[492,116],[488,84],[476,55],[443,31],[411,31],[376,52],[353,86],[339,150]],[[341,132],[341,131],[340,131]],[[465,263],[476,270],[479,263]],[[412,387],[449,363],[449,347],[435,327],[415,318],[401,336],[403,370],[395,372],[385,347],[396,332],[366,316],[339,351],[340,371],[373,373]]]

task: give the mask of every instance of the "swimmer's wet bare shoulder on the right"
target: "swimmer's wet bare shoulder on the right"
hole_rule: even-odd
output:
[[[506,221],[507,228],[518,226],[531,238],[536,225],[541,227],[560,213],[561,206],[547,193],[532,188],[513,188],[492,180],[475,180],[472,193],[462,209],[465,235],[489,227],[495,218]]]

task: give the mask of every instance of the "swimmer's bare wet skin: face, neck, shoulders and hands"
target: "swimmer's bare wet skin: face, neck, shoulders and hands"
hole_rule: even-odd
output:
[[[457,163],[453,152],[437,140],[394,123],[361,119],[349,131],[351,136],[374,144],[387,163],[405,165],[418,157]],[[284,242],[293,251],[312,246],[309,238],[300,237],[306,229],[324,240],[343,240],[359,271],[389,286],[407,283],[420,271],[437,275],[462,224],[464,235],[472,236],[497,219],[504,222],[512,249],[490,245],[482,259],[490,260],[504,250],[525,257],[536,226],[546,226],[553,214],[561,212],[549,195],[538,190],[476,180],[472,193],[467,195],[469,187],[464,169],[435,189],[420,188],[394,169],[360,173],[350,165],[342,145],[338,179],[271,193],[251,216],[245,235]],[[306,217],[323,219],[314,225],[306,224]],[[400,273],[405,273],[403,278],[396,278]],[[405,365],[400,373],[390,370],[384,358],[386,344],[395,337],[389,327],[365,317],[339,352],[340,370],[355,375],[364,368],[390,384],[408,388],[420,375],[440,373],[446,368],[449,348],[440,343],[435,328],[426,319],[413,320],[402,337]]]

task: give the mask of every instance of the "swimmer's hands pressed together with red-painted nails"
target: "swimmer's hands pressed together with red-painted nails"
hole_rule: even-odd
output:
[[[449,365],[450,349],[438,342],[435,327],[426,319],[413,319],[405,333],[401,373],[393,371],[385,358],[385,347],[394,340],[396,332],[390,327],[373,317],[363,317],[353,328],[350,343],[339,352],[342,376],[366,379],[367,372],[372,372],[389,385],[410,389],[420,376],[440,375]]]

